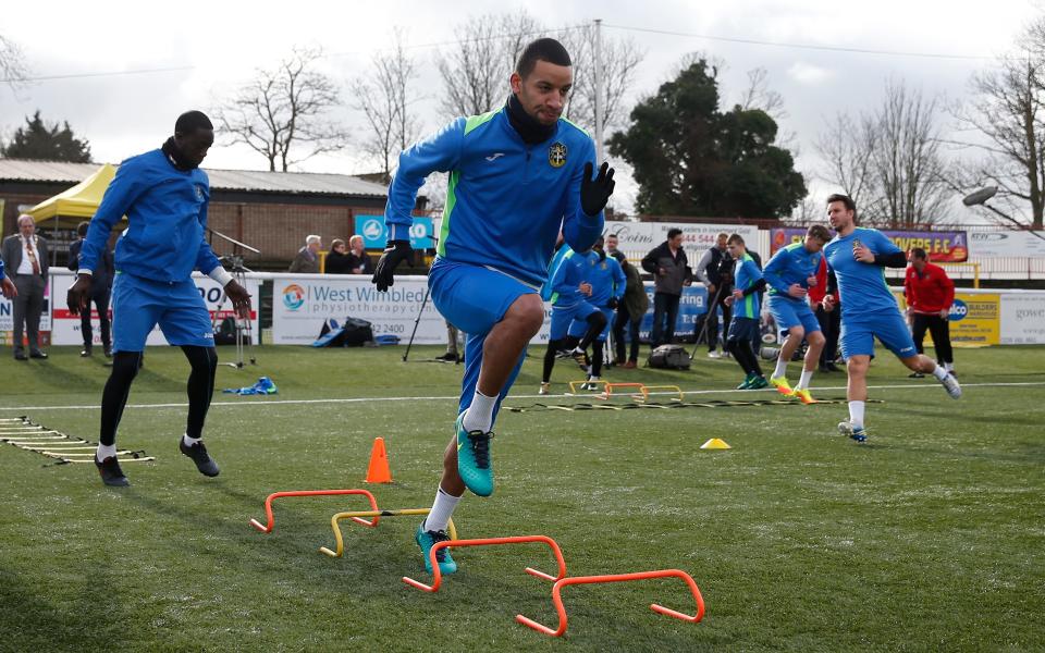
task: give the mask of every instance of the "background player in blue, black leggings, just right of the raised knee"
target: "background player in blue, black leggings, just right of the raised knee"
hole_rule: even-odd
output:
[[[544,350],[540,394],[550,392],[556,354],[561,349],[569,348],[566,345],[566,335],[570,324],[575,321],[585,324],[581,330],[582,337],[579,338],[580,344],[575,341],[577,348],[570,354],[582,353],[607,324],[602,311],[590,301],[592,285],[586,279],[587,252],[577,254],[569,246],[563,245],[556,254],[556,259],[560,262],[545,284],[545,287],[551,289],[548,294],[552,303],[552,323],[549,330],[548,348]]]

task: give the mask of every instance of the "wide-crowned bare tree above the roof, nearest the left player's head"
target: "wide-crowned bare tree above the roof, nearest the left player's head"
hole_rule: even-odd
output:
[[[217,111],[221,130],[232,135],[231,143],[263,155],[270,171],[279,163],[286,172],[291,165],[347,144],[347,132],[327,118],[340,106],[340,98],[334,82],[315,70],[321,57],[319,49],[295,47],[274,70],[258,70],[257,77]]]

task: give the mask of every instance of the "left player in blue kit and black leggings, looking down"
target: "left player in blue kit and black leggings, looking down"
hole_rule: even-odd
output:
[[[107,485],[130,484],[116,461],[116,428],[145,341],[157,324],[170,344],[181,346],[192,367],[188,420],[179,448],[201,473],[218,476],[218,465],[201,440],[218,354],[210,313],[192,280],[193,270],[220,283],[241,316],[249,316],[250,295],[221,267],[205,237],[210,183],[199,164],[213,143],[213,125],[206,115],[199,111],[180,115],[174,136],[160,149],[120,164],[81,249],[78,276],[66,297],[73,315],[87,310],[91,271],[112,227],[127,217],[127,230],[116,243],[112,373],[101,395],[101,436],[95,456]]]

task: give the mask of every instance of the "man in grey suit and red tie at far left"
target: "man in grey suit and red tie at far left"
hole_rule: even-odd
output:
[[[40,350],[40,313],[47,286],[47,241],[36,235],[32,215],[19,215],[19,233],[3,239],[3,264],[19,291],[14,299],[14,359],[47,358]],[[22,347],[22,328],[29,337],[29,356]]]

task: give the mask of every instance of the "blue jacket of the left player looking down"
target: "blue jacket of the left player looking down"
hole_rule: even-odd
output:
[[[202,170],[177,170],[159,149],[131,157],[90,221],[79,269],[98,267],[113,225],[126,215],[127,230],[116,242],[118,272],[165,283],[185,281],[193,270],[210,273],[221,263],[205,237],[209,200]]]

